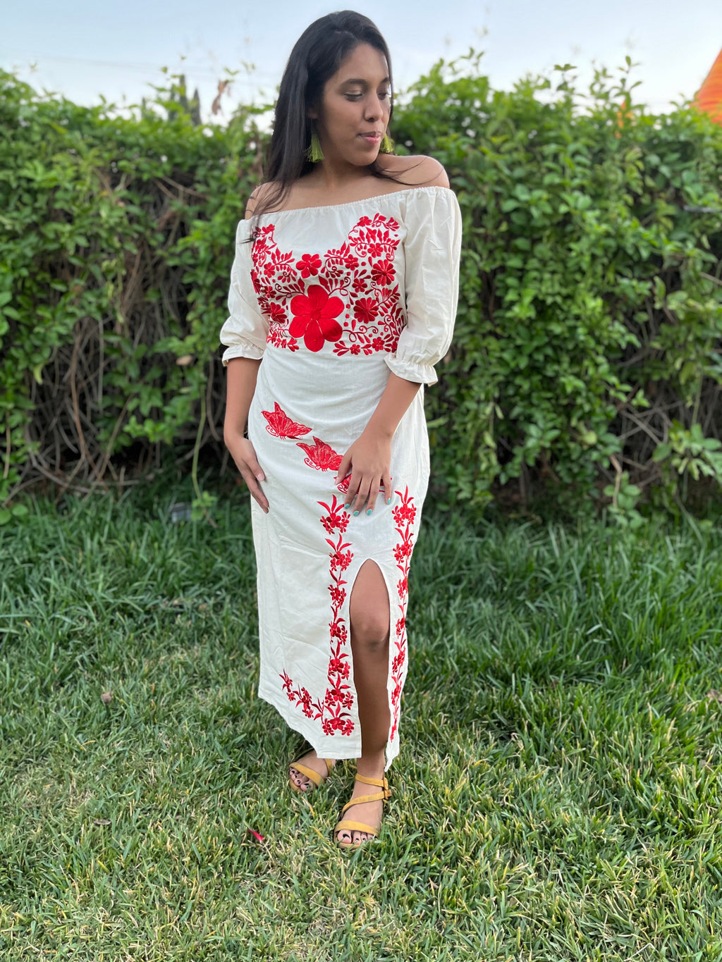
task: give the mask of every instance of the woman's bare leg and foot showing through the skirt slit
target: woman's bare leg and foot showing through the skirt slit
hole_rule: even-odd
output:
[[[348,603],[353,684],[361,722],[361,757],[356,759],[360,775],[383,778],[384,749],[389,737],[391,715],[386,683],[389,672],[389,595],[386,582],[373,561],[365,561],[353,583]],[[351,798],[373,795],[373,786],[355,782]],[[344,818],[368,825],[381,825],[383,802],[369,801],[348,809]],[[368,832],[343,829],[341,842],[363,842]]]

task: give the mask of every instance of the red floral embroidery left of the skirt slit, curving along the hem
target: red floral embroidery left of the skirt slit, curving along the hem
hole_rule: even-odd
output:
[[[344,586],[347,584],[343,572],[348,569],[353,558],[349,550],[350,543],[343,539],[343,533],[348,527],[348,516],[343,511],[343,502],[337,501],[335,494],[331,504],[325,504],[323,501],[318,503],[325,509],[321,519],[323,528],[327,534],[331,535],[330,538],[326,538],[326,544],[331,548],[329,554],[331,583],[328,586],[328,593],[331,596],[331,620],[328,624],[331,651],[328,659],[328,686],[322,700],[314,701],[305,688],[294,688],[293,681],[285,671],[280,677],[283,679],[282,687],[289,700],[296,701],[297,707],[306,718],[320,720],[324,735],[333,735],[335,732],[350,735],[354,728],[353,719],[350,717],[353,693],[348,684],[350,666],[348,652],[345,650],[348,629],[345,619],[341,617],[341,609],[346,600]],[[338,539],[333,537],[336,531],[339,532]]]

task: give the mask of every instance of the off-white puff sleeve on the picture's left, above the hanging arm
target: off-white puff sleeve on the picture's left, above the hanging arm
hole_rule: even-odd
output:
[[[228,291],[228,319],[220,328],[220,343],[225,345],[221,358],[226,367],[232,358],[260,360],[266,349],[269,323],[261,313],[250,271],[250,221],[242,220],[236,231],[236,256],[231,267]]]

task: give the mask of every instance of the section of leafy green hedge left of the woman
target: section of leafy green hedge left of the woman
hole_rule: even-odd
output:
[[[130,445],[141,462],[193,446],[201,409],[199,443],[219,443],[253,112],[227,130],[177,109],[121,118],[0,73],[0,123],[0,501],[38,475],[117,478]]]

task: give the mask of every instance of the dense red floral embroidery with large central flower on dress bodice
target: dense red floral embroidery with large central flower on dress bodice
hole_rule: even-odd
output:
[[[316,352],[330,342],[338,355],[397,349],[404,323],[394,266],[398,221],[360,217],[338,249],[300,260],[279,249],[274,231],[274,224],[256,231],[250,271],[270,344],[295,351],[302,339]]]

